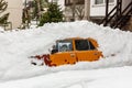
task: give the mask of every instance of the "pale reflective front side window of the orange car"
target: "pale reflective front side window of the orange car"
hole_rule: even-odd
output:
[[[73,51],[72,41],[58,41],[57,42],[58,52]]]

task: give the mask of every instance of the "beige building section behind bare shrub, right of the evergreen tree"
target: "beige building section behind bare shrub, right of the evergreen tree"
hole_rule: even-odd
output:
[[[85,16],[85,0],[65,0],[65,20],[82,20]]]

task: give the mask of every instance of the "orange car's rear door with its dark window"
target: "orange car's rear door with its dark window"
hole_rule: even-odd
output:
[[[76,40],[75,47],[76,47],[76,56],[79,62],[97,61],[98,51],[88,40]]]

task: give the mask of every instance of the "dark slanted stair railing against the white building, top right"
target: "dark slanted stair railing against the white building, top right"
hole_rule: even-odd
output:
[[[127,6],[127,8],[120,12],[120,15],[117,15],[118,13],[118,6],[122,6],[121,2],[119,2],[109,13],[106,15],[106,18],[101,21],[100,24],[103,24],[107,26],[110,24],[111,28],[122,28],[125,25],[125,23],[130,19],[130,14],[132,14],[132,1]],[[114,21],[113,21],[114,20]],[[122,23],[123,22],[123,23]]]

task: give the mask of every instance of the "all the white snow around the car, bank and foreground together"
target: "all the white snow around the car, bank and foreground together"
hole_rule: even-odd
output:
[[[48,53],[56,40],[94,37],[105,58],[59,67],[33,66],[30,56]],[[132,88],[132,33],[87,21],[0,30],[0,88]],[[114,56],[112,56],[114,54]]]

